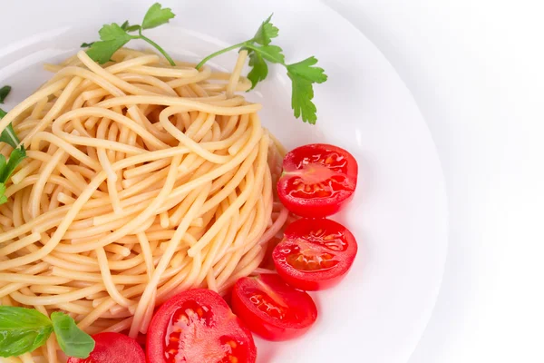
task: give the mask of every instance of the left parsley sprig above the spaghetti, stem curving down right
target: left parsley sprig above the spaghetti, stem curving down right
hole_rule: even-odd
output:
[[[99,64],[105,64],[112,59],[112,55],[123,45],[129,43],[133,39],[141,39],[154,46],[160,54],[164,55],[171,65],[176,65],[170,55],[167,54],[159,44],[156,44],[141,33],[144,29],[151,29],[169,23],[170,19],[174,16],[175,15],[170,8],[163,8],[159,3],[155,3],[151,5],[150,9],[143,17],[141,25],[129,25],[128,21],[124,22],[122,25],[118,25],[117,23],[103,25],[102,29],[98,32],[101,40],[92,43],[83,43],[82,47],[89,47],[87,54],[92,60]],[[138,32],[138,34],[131,34],[133,32]]]

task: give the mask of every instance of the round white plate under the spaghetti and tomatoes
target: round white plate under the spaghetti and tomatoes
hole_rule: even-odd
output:
[[[44,61],[73,54],[108,22],[139,22],[151,1],[17,1],[0,6],[0,84],[13,107],[48,74]],[[125,4],[129,4],[125,2]],[[360,243],[355,265],[335,289],[314,294],[316,325],[283,343],[257,339],[259,362],[405,363],[431,316],[447,247],[442,170],[412,95],[363,34],[319,3],[163,1],[178,15],[149,32],[170,54],[199,59],[252,36],[275,12],[287,61],[316,55],[329,80],[316,86],[316,126],[293,117],[290,83],[272,67],[252,98],[263,122],[287,147],[329,142],[359,162],[355,200],[337,216]],[[32,11],[29,12],[29,6]],[[24,19],[22,22],[21,19]],[[236,54],[214,60],[230,69]]]

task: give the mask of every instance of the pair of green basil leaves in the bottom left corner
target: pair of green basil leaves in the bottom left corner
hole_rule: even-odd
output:
[[[45,344],[54,332],[69,357],[88,358],[94,340],[79,329],[63,312],[53,312],[51,319],[36,309],[0,306],[0,357],[17,357]]]

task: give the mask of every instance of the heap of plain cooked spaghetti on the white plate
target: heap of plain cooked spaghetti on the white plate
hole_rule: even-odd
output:
[[[288,217],[272,187],[285,151],[236,94],[246,56],[232,74],[124,48],[46,65],[53,78],[0,121],[28,156],[0,206],[2,305],[135,337],[172,295],[224,293],[257,268]],[[50,338],[6,361],[57,351]]]

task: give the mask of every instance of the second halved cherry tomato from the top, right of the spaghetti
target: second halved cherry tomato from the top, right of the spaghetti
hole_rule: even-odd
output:
[[[334,286],[351,268],[357,254],[354,235],[331,220],[298,220],[272,252],[279,276],[296,289]]]

